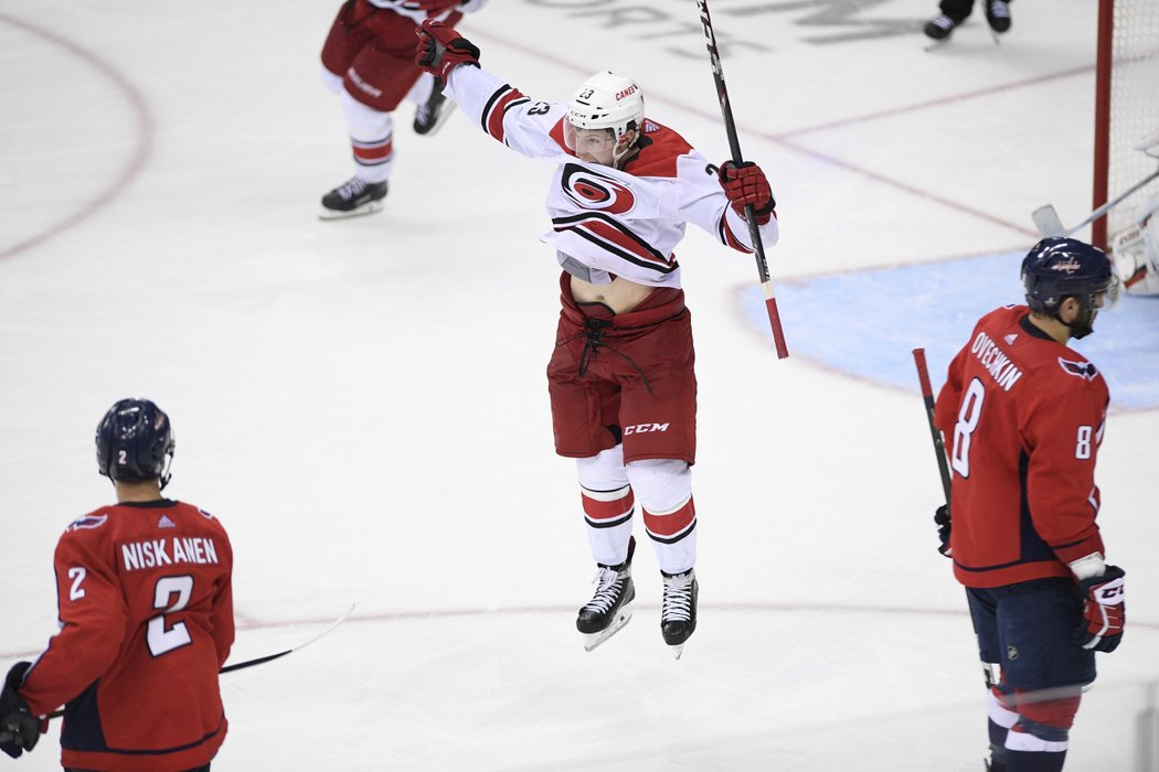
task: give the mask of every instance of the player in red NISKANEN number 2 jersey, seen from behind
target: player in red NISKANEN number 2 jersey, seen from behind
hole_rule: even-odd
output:
[[[197,507],[165,499],[174,440],[147,399],[123,399],[96,429],[117,503],[60,537],[60,632],[8,671],[0,749],[31,751],[64,705],[65,770],[207,771],[227,722],[218,670],[233,645],[233,552]]]

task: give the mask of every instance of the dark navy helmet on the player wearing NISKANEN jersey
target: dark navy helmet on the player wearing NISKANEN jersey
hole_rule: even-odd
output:
[[[148,399],[122,399],[96,427],[96,465],[114,480],[169,481],[176,443],[163,410]]]

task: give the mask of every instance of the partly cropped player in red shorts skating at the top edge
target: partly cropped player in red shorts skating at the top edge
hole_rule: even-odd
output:
[[[414,61],[415,29],[425,19],[455,23],[487,0],[347,0],[322,46],[322,80],[338,95],[350,134],[355,176],[322,197],[323,220],[382,208],[394,168],[394,118],[415,102],[414,130],[433,134],[453,103],[443,84]]]

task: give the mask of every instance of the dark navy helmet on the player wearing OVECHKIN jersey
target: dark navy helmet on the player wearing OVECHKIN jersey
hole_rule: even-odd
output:
[[[1083,315],[1071,324],[1076,338],[1091,333],[1105,300],[1114,302],[1118,278],[1102,250],[1076,238],[1043,238],[1022,260],[1022,286],[1032,310],[1058,318],[1058,307],[1074,297]]]

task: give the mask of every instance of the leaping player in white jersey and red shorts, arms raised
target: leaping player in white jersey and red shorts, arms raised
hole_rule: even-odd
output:
[[[424,22],[420,66],[494,139],[557,166],[544,236],[563,269],[547,367],[555,450],[576,459],[597,589],[576,626],[589,650],[630,618],[639,507],[663,575],[661,631],[676,656],[697,626],[697,380],[673,249],[687,223],[751,252],[745,205],[765,244],[778,226],[751,162],[717,169],[644,113],[630,79],[597,73],[570,103],[535,102],[479,67],[479,49]]]

